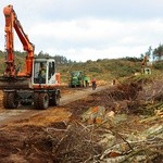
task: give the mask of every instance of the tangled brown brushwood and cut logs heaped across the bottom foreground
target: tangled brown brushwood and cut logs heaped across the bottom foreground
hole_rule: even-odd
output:
[[[62,122],[55,123],[51,127],[42,128],[41,133],[34,133],[35,137],[26,139],[26,146],[22,150],[23,152],[28,151],[26,160],[29,162],[34,162],[36,159],[42,162],[42,159],[46,159],[45,161],[61,163],[156,162],[163,156],[163,139],[156,137],[155,131],[158,133],[159,130],[158,134],[161,134],[162,128],[158,125],[148,130],[153,135],[149,137],[143,131],[139,136],[129,138],[129,135],[123,136],[113,128],[110,129],[103,125],[84,125],[79,122],[65,124]],[[116,139],[110,148],[99,143],[102,140],[102,135],[105,134],[112,134]]]

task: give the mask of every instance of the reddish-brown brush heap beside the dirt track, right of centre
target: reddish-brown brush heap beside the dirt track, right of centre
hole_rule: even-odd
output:
[[[93,97],[97,105],[103,105],[106,110],[116,113],[131,113],[139,106],[137,99],[141,90],[142,86],[138,83],[120,84],[93,95]]]

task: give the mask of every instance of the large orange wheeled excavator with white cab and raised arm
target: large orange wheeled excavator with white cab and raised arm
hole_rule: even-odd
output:
[[[3,9],[5,20],[5,62],[4,72],[0,76],[0,89],[3,90],[4,109],[16,109],[18,104],[34,105],[37,110],[46,110],[49,105],[60,104],[60,73],[57,73],[52,58],[36,58],[35,46],[17,20],[13,5]],[[26,52],[25,67],[22,71],[15,62],[14,32]],[[45,74],[41,74],[43,67]]]

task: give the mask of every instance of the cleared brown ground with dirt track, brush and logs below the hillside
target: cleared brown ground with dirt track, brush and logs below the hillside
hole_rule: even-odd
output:
[[[0,162],[163,162],[162,80],[61,88],[61,105],[0,103]],[[2,92],[0,92],[2,101]]]

